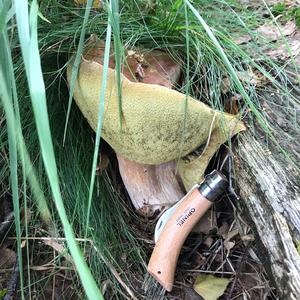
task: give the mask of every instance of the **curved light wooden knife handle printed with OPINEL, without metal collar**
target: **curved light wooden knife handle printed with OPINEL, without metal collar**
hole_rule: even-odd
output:
[[[167,291],[172,290],[177,260],[184,241],[212,204],[195,187],[180,203],[161,232],[147,270]]]

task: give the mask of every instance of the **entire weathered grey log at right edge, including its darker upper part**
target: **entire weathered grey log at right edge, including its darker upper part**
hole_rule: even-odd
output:
[[[300,89],[297,82],[289,92],[283,95],[269,86],[259,95],[264,115],[281,149],[254,122],[255,130],[239,136],[235,167],[241,204],[246,210],[244,216],[252,221],[257,237],[257,255],[279,299],[300,299]]]

